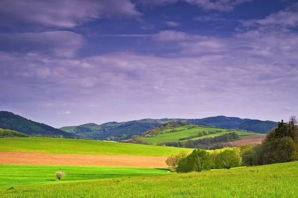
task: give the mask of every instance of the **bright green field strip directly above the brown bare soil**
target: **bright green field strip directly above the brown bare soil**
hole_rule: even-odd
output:
[[[26,151],[54,154],[106,154],[169,156],[188,148],[171,148],[127,143],[58,138],[1,138],[0,151]]]

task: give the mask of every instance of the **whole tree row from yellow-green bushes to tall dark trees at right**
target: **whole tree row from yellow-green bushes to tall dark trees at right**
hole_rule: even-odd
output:
[[[179,157],[178,157],[179,156]],[[242,145],[207,152],[194,149],[192,153],[172,155],[167,160],[169,167],[178,173],[226,168],[282,163],[298,160],[298,120],[291,116],[289,122],[283,120],[272,129],[261,145]]]

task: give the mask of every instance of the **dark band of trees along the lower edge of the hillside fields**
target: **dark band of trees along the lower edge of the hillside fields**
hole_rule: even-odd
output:
[[[159,143],[159,146],[168,147],[179,147],[179,148],[213,148],[221,143],[231,142],[238,140],[239,136],[235,132],[226,133],[221,136],[216,136],[213,138],[202,138],[198,140],[187,140],[183,142],[163,142]]]

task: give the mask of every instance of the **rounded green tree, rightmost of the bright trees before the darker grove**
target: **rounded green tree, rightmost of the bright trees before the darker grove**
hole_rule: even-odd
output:
[[[226,149],[216,156],[215,163],[217,168],[230,169],[239,166],[239,157],[235,150]]]

